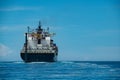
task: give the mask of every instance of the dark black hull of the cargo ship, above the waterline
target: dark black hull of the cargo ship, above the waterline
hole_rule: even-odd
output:
[[[21,53],[24,62],[55,62],[57,55],[55,53]]]

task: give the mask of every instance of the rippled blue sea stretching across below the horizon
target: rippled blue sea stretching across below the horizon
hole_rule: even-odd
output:
[[[120,80],[120,62],[0,62],[0,80]]]

